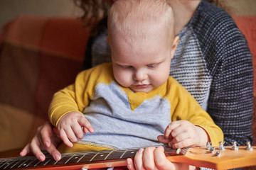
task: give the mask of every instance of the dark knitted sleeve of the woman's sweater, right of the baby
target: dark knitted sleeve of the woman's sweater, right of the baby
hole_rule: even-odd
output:
[[[206,111],[223,130],[226,145],[252,142],[253,69],[245,37],[228,13],[207,1],[201,2],[187,27],[211,78]]]

